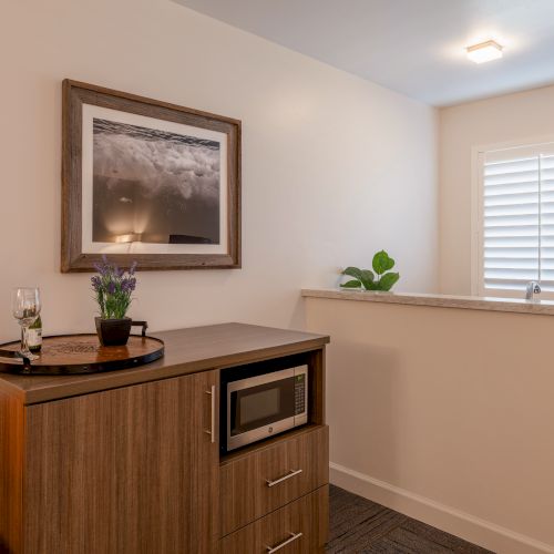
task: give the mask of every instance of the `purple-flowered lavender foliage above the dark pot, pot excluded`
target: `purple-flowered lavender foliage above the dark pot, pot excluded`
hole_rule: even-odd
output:
[[[136,261],[127,271],[102,256],[102,264],[94,264],[99,275],[91,278],[92,289],[100,307],[102,319],[123,319],[131,306],[136,287]]]

